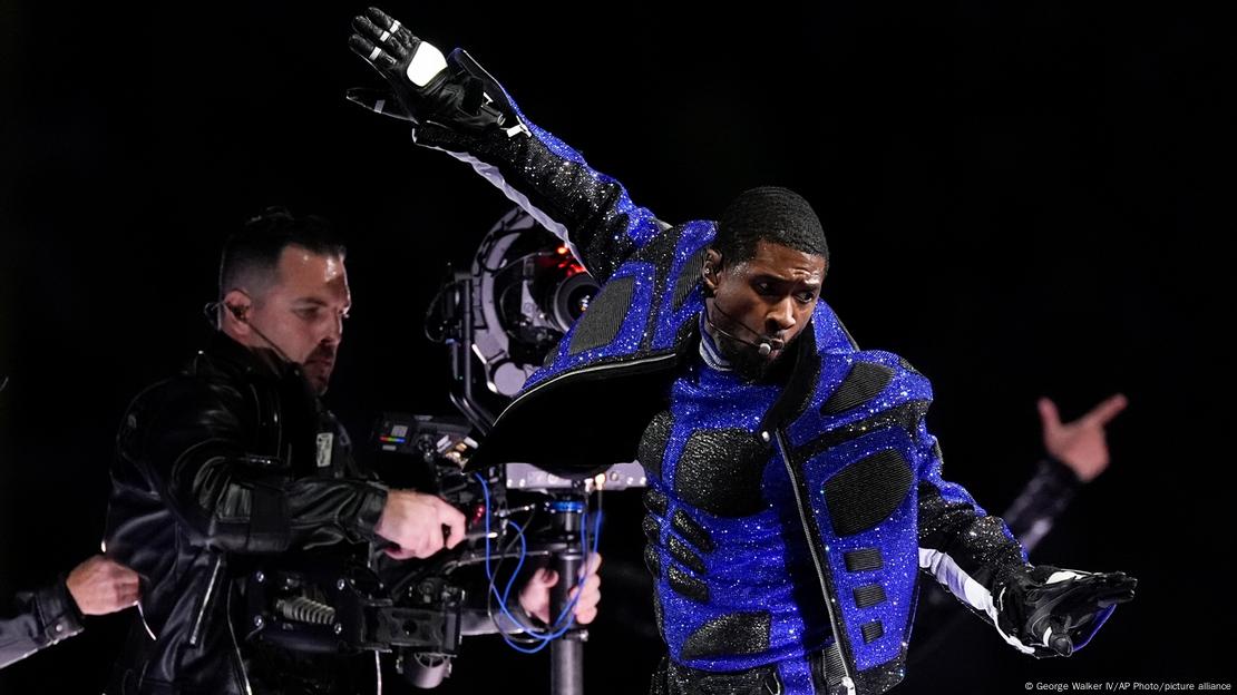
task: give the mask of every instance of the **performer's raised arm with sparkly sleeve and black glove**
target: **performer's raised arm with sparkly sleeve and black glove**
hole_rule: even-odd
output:
[[[390,92],[353,89],[349,99],[411,121],[418,145],[471,164],[562,239],[600,282],[668,229],[632,203],[617,181],[529,122],[465,51],[444,57],[375,7],[357,16],[353,28],[349,45],[386,79]]]

